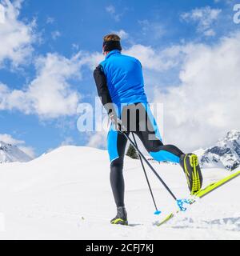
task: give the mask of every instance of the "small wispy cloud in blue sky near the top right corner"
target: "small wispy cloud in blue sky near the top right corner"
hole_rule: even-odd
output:
[[[182,20],[186,22],[197,22],[198,32],[205,36],[214,36],[215,32],[213,29],[214,22],[218,20],[221,9],[213,9],[210,6],[196,8],[188,13],[181,15]]]

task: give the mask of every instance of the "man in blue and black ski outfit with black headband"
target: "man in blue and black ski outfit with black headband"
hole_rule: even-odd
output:
[[[138,59],[122,54],[120,41],[117,34],[108,34],[103,38],[102,54],[106,59],[94,70],[94,80],[111,121],[107,147],[110,184],[117,206],[117,216],[111,223],[128,225],[122,174],[127,139],[123,132],[137,134],[156,161],[179,163],[186,175],[190,193],[201,189],[202,173],[195,154],[184,154],[176,146],[163,144],[144,91],[142,64]]]

